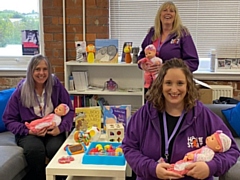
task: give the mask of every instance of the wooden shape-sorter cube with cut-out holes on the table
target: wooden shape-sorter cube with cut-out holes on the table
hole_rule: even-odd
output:
[[[122,142],[124,138],[124,126],[122,123],[106,124],[106,140]]]

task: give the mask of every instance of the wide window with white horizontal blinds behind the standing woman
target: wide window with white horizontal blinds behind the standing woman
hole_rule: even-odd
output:
[[[141,46],[163,0],[116,0],[110,5],[110,35]],[[190,30],[200,57],[200,69],[209,70],[209,53],[221,58],[240,58],[239,0],[175,0],[183,24]]]

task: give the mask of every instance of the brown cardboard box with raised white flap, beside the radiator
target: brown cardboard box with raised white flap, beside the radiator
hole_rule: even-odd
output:
[[[203,104],[212,104],[213,103],[213,90],[208,84],[194,79],[195,83],[199,87],[200,101]]]

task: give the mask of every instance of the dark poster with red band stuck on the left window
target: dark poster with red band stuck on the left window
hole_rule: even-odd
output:
[[[22,30],[22,54],[39,54],[39,32],[38,30]]]

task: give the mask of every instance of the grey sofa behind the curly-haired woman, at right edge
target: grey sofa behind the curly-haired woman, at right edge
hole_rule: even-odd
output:
[[[228,109],[231,107],[234,107],[235,105],[231,104],[206,104],[206,107],[208,107],[212,112],[217,114],[224,123],[228,126],[228,128],[231,130],[233,136],[235,137],[235,140],[238,144],[238,147],[240,148],[240,138],[236,134],[236,132],[233,130],[233,128],[230,126],[224,115],[222,114],[222,109]],[[219,177],[219,180],[239,180],[240,179],[240,158],[238,159],[238,162],[223,176]],[[215,178],[216,180],[218,178]],[[214,180],[215,180],[214,179]]]

